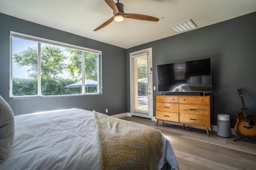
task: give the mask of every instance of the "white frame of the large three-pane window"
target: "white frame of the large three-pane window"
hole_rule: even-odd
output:
[[[36,41],[38,43],[38,94],[37,95],[26,95],[26,96],[13,96],[12,95],[12,37],[20,38],[20,39],[26,39],[29,41]],[[41,94],[41,43],[46,43],[49,45],[56,45],[59,47],[65,47],[65,48],[72,48],[76,50],[82,51],[82,94],[63,94],[63,95],[49,95],[49,96],[43,96]],[[98,81],[98,92],[96,93],[86,93],[84,82],[85,82],[85,57],[84,53],[96,53],[97,58],[97,81]],[[10,86],[9,86],[9,92],[10,92],[10,98],[36,98],[36,97],[59,97],[59,96],[82,96],[82,95],[97,95],[101,93],[100,85],[102,84],[101,76],[101,68],[100,68],[100,62],[102,62],[102,51],[89,49],[86,47],[80,47],[77,45],[72,45],[68,43],[62,43],[59,41],[54,41],[50,39],[45,39],[41,37],[36,37],[32,35],[27,35],[23,33],[18,33],[15,31],[10,31]]]

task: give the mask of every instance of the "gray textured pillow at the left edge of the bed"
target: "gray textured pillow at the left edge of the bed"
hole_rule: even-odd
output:
[[[8,103],[0,96],[0,163],[11,151],[14,138],[14,114]]]

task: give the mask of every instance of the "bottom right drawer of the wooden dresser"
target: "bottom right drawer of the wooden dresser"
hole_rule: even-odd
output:
[[[180,113],[180,123],[210,127],[209,117],[201,115],[190,115]]]

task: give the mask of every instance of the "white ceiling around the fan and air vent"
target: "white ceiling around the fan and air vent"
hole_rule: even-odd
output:
[[[133,19],[113,21],[106,27],[93,31],[113,15],[104,0],[0,0],[0,12],[125,49],[176,35],[168,26],[190,18],[200,28],[256,12],[256,0],[119,2],[124,4],[125,13],[164,19],[158,22]]]

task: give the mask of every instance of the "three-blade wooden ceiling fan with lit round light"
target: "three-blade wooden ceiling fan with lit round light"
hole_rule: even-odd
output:
[[[142,14],[125,14],[124,13],[124,5],[122,3],[119,3],[119,0],[117,0],[117,3],[114,2],[114,0],[105,0],[105,2],[110,6],[110,8],[114,11],[114,16],[111,17],[108,21],[102,23],[99,27],[94,29],[93,31],[97,31],[112,21],[121,22],[124,20],[124,18],[131,18],[136,20],[146,20],[146,21],[158,21],[158,18],[152,17],[152,16],[146,16]]]

